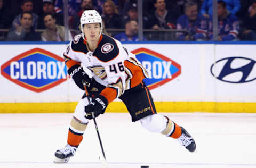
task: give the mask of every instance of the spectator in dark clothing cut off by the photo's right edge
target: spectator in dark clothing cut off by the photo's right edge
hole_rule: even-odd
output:
[[[244,30],[242,37],[244,40],[256,40],[256,1],[250,5],[243,20]]]

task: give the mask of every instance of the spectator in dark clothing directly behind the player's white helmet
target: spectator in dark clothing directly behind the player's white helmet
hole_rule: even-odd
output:
[[[93,9],[92,0],[83,0],[81,3],[81,11],[73,15],[71,18],[70,27],[73,29],[79,29],[80,18],[85,10]]]

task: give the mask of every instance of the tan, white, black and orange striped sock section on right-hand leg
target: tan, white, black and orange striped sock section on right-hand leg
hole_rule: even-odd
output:
[[[181,128],[179,127],[179,125],[169,120],[167,116],[165,116],[165,118],[167,119],[167,125],[165,130],[162,131],[161,133],[163,135],[166,135],[168,137],[172,137],[175,139],[179,138],[181,136]]]

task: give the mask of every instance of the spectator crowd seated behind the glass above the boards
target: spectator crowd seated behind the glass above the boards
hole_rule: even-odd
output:
[[[148,30],[143,40],[161,40],[153,35],[167,33],[173,35],[167,40],[213,40],[212,0],[141,1],[143,30]],[[139,40],[137,0],[68,0],[68,33],[62,0],[0,0],[0,40],[70,40],[87,9],[102,15],[104,33],[120,41]],[[256,40],[256,0],[218,0],[217,15],[218,41]]]

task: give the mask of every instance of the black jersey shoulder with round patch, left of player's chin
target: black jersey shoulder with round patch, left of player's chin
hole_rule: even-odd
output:
[[[71,44],[71,48],[74,52],[83,52],[88,53],[88,49],[86,44],[84,44],[84,39],[82,38],[82,34],[76,35]]]

